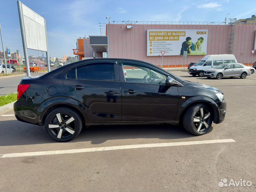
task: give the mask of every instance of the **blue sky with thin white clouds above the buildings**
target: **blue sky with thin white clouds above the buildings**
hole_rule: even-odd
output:
[[[50,57],[71,55],[76,37],[100,35],[99,22],[115,21],[220,21],[256,15],[251,0],[21,0],[46,18]],[[4,46],[23,56],[17,1],[0,0]],[[0,44],[1,45],[1,44]],[[0,47],[2,50],[2,47]],[[38,51],[28,50],[28,55]],[[41,53],[40,53],[41,55]]]

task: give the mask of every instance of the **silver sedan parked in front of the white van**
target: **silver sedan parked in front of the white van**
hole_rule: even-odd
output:
[[[251,75],[250,68],[245,68],[239,63],[220,64],[216,68],[204,71],[204,76],[207,78],[222,79],[223,77],[240,77],[245,79],[247,75]]]

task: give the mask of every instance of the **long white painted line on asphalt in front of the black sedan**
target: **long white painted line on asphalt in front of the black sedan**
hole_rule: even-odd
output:
[[[230,142],[236,142],[236,141],[233,140],[233,139],[215,139],[215,140],[190,141],[190,142],[152,143],[152,144],[139,144],[139,145],[107,146],[107,147],[85,148],[85,149],[69,149],[69,150],[58,150],[58,151],[37,151],[37,152],[27,152],[27,153],[9,153],[9,154],[0,154],[0,158],[27,157],[27,156],[39,156],[39,155],[57,155],[57,154],[70,154],[70,153],[86,153],[86,152],[93,152],[93,151],[110,151],[110,150],[120,150],[120,149],[154,148],[154,147],[165,147],[165,146],[197,145],[197,144],[210,144],[210,143],[230,143]]]

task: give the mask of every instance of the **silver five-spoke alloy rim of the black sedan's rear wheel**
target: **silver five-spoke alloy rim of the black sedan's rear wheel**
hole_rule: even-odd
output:
[[[57,113],[48,124],[50,133],[58,139],[68,139],[76,131],[75,118],[65,113]]]

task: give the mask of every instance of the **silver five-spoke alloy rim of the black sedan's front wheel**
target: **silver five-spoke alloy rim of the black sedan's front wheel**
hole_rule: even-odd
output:
[[[206,130],[209,127],[210,122],[210,112],[205,108],[200,108],[193,119],[194,126],[198,132]]]

